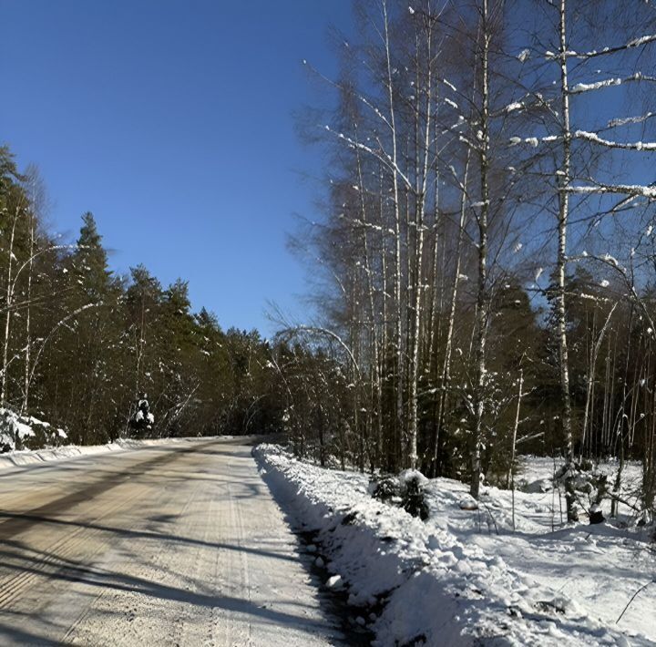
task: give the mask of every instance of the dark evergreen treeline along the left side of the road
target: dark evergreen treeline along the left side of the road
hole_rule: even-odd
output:
[[[282,430],[271,358],[293,349],[191,312],[187,282],[164,287],[142,265],[112,272],[91,213],[62,244],[44,227],[43,202],[36,170],[19,172],[0,148],[2,406],[80,444],[129,434],[142,394],[155,416],[149,435]]]

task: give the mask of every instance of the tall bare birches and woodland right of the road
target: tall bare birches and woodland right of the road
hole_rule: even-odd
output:
[[[653,507],[655,19],[354,2],[338,76],[311,70],[328,108],[302,119],[328,159],[324,217],[293,241],[321,318],[287,334],[331,359],[305,385],[303,447],[474,496],[546,453],[570,518],[583,458],[639,458]]]

